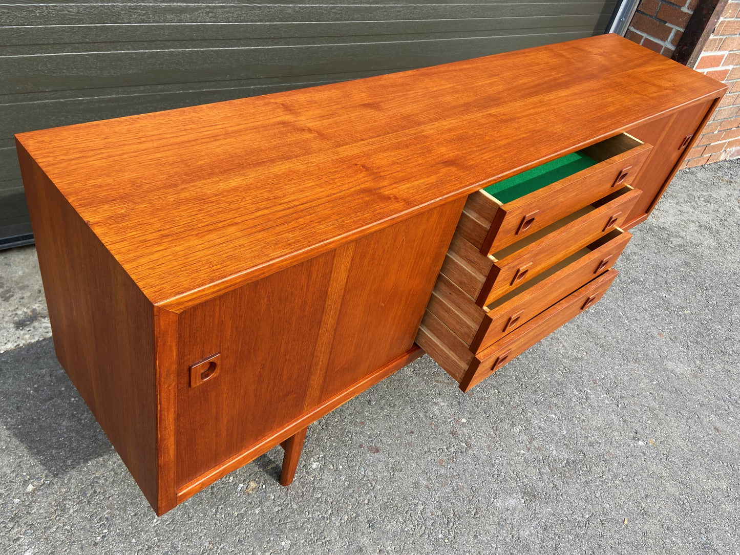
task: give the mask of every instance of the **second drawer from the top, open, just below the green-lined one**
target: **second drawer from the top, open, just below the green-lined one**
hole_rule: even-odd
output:
[[[639,190],[623,187],[493,255],[483,255],[456,232],[441,273],[478,306],[488,306],[618,228],[639,195]]]

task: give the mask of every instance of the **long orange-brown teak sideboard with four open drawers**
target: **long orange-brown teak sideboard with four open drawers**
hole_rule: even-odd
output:
[[[724,85],[615,35],[16,136],[58,360],[163,514],[591,306]],[[414,341],[417,343],[414,343]]]

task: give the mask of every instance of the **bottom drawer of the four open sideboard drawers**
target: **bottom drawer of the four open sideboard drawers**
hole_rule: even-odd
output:
[[[478,354],[471,353],[460,337],[429,312],[424,315],[416,342],[460,383],[462,391],[469,391],[514,357],[593,306],[618,273],[615,269],[608,270]]]

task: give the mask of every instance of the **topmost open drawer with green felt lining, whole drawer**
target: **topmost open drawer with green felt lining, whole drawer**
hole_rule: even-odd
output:
[[[630,184],[652,147],[627,133],[468,196],[457,232],[489,255]]]

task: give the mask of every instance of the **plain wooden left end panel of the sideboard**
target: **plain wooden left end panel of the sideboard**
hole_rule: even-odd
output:
[[[56,356],[157,506],[153,306],[19,145]]]

